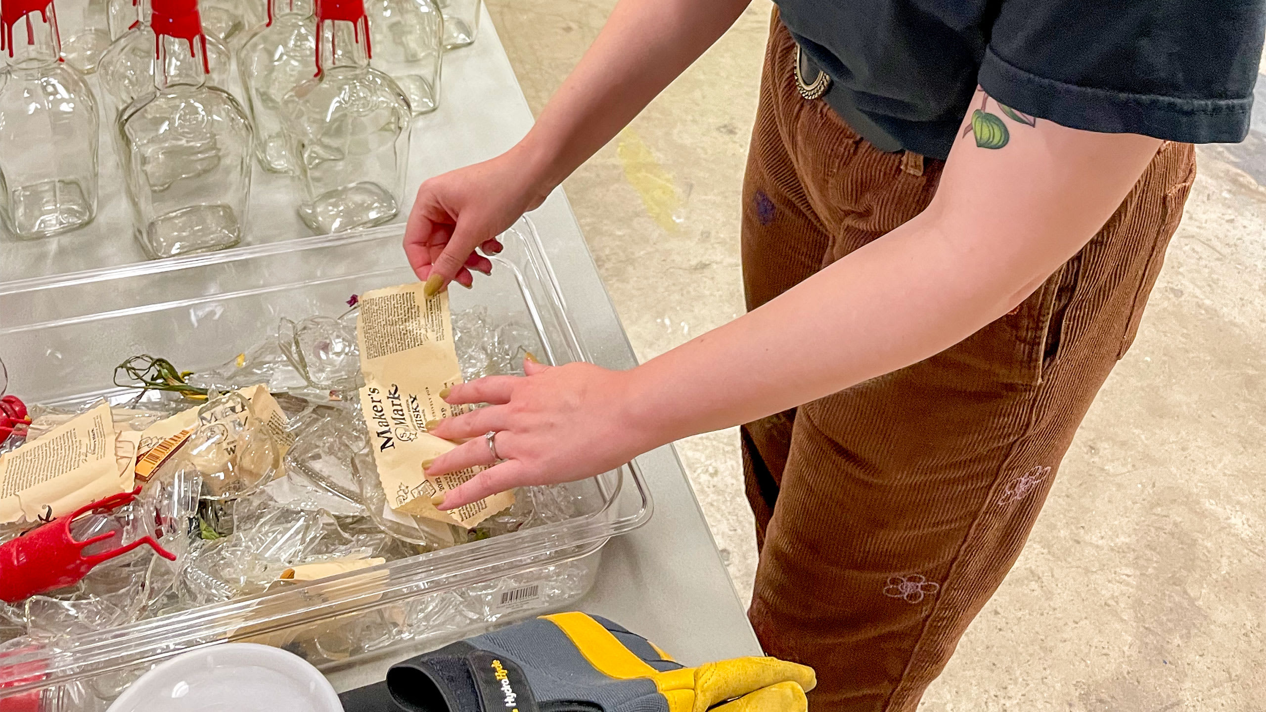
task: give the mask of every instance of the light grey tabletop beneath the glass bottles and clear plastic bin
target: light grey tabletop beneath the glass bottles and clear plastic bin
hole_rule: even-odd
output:
[[[442,106],[414,128],[406,205],[429,176],[492,157],[532,125],[532,113],[486,11],[476,43],[444,60]],[[562,288],[579,337],[598,364],[636,364],[611,302],[561,190],[532,214]],[[144,258],[133,241],[114,148],[101,146],[96,222],[37,242],[0,241],[0,281],[118,266]],[[294,212],[289,179],[256,168],[246,245],[308,234]],[[594,590],[580,608],[648,636],[677,659],[696,664],[760,654],[703,513],[671,447],[639,459],[655,498],[646,527],[608,542]],[[382,678],[392,660],[332,673],[346,689]]]

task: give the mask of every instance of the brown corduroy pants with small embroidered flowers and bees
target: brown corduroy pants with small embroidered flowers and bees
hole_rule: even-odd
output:
[[[748,309],[913,218],[941,176],[941,161],[884,153],[801,99],[794,57],[775,16],[743,185]],[[749,617],[770,655],[818,670],[812,708],[918,706],[1129,347],[1194,177],[1193,147],[1163,144],[1099,234],[1015,312],[743,426],[761,546]]]

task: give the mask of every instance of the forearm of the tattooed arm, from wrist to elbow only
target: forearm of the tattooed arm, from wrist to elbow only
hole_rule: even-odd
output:
[[[636,369],[638,421],[668,442],[808,403],[948,348],[1041,284],[972,252],[915,218]]]

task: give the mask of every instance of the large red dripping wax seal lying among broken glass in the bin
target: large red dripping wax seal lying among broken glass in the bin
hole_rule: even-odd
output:
[[[111,494],[0,545],[0,601],[18,603],[39,593],[72,585],[86,576],[97,564],[127,554],[142,544],[148,544],[160,556],[175,561],[176,555],[160,546],[149,535],[109,551],[91,555],[85,555],[84,550],[94,544],[106,541],[119,532],[111,531],[86,541],[75,541],[75,536],[71,533],[71,522],[89,512],[113,512],[135,499],[139,493],[141,488],[138,486],[132,492]]]

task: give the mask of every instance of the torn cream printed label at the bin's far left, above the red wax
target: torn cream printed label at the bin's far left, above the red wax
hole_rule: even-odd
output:
[[[0,455],[0,523],[49,521],[130,492],[141,433],[116,433],[106,403]]]

